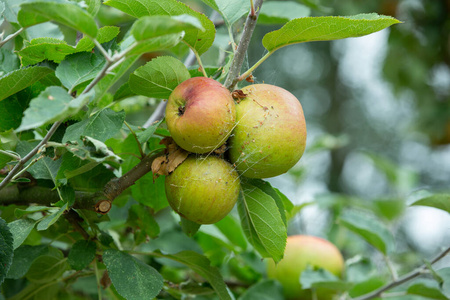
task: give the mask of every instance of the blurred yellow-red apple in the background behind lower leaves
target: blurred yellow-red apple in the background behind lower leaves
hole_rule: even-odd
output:
[[[286,299],[311,299],[311,291],[302,290],[300,284],[300,275],[308,265],[341,277],[344,259],[339,249],[325,239],[293,235],[287,238],[283,259],[278,264],[272,259],[267,261],[267,276],[281,283]],[[317,296],[318,299],[330,298],[329,293]]]

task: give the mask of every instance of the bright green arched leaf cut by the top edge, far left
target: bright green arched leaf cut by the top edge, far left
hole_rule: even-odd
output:
[[[94,18],[80,6],[70,2],[35,1],[23,3],[17,19],[22,27],[56,21],[90,37],[95,38],[97,36],[97,24]]]

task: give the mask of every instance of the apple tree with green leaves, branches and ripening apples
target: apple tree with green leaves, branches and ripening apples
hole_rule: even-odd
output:
[[[401,22],[311,0],[185,2],[0,1],[0,297],[448,299],[450,269],[434,264],[450,248],[392,263],[397,202],[323,208],[353,255],[288,238],[314,203],[266,179],[330,145],[308,145],[300,102],[257,68]],[[264,54],[249,58],[253,44]]]

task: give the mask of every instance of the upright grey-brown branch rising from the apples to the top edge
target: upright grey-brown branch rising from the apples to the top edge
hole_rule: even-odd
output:
[[[253,30],[256,27],[256,22],[258,21],[259,11],[261,10],[262,0],[256,0],[254,3],[254,9],[250,11],[245,21],[244,31],[242,32],[241,40],[239,41],[236,54],[234,56],[233,62],[231,63],[230,72],[228,73],[227,79],[224,85],[228,90],[232,91],[239,81],[239,73],[241,72],[242,64],[244,63],[244,58],[247,53],[247,48],[250,44],[252,38]]]

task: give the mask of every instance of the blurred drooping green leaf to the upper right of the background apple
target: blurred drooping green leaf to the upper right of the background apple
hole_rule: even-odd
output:
[[[392,233],[378,220],[354,211],[346,211],[338,219],[338,223],[353,231],[383,254],[394,248]]]

